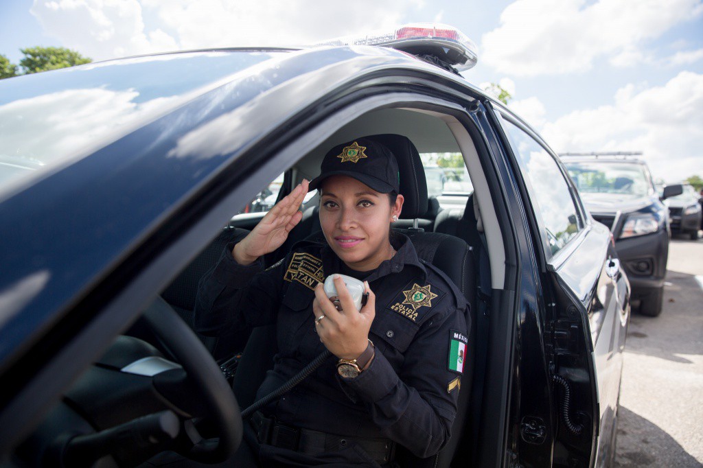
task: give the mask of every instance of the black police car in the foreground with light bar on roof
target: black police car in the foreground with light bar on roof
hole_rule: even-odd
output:
[[[197,337],[198,280],[272,181],[280,199],[325,150],[374,134],[399,160],[396,228],[472,314],[451,440],[397,462],[609,464],[628,280],[555,153],[458,74],[476,62],[461,32],[420,24],[2,80],[2,462],[226,464],[266,345]],[[441,158],[467,180],[428,197]],[[309,197],[291,241],[318,230]]]

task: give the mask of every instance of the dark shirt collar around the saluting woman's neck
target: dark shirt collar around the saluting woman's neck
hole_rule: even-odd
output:
[[[425,270],[425,266],[420,262],[418,252],[415,251],[415,246],[407,235],[394,232],[391,245],[396,250],[396,254],[392,259],[382,261],[375,271],[364,278],[366,281],[371,282],[385,275],[389,275],[390,273],[400,273],[404,268],[416,268],[422,280],[427,280],[427,270]],[[340,271],[342,261],[327,242],[325,242],[325,245],[322,247],[321,255],[325,275],[328,274],[327,272],[337,273]]]

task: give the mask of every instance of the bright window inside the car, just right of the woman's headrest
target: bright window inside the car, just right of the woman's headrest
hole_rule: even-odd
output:
[[[427,197],[437,198],[442,208],[465,207],[474,191],[460,152],[424,152],[420,154],[427,180]]]

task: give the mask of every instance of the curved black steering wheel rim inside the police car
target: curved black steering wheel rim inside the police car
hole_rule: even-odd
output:
[[[181,455],[196,462],[224,462],[234,455],[242,441],[242,417],[234,392],[195,332],[162,297],[146,308],[143,318],[195,382],[206,412],[201,416],[212,420],[219,434],[219,438],[194,441]]]

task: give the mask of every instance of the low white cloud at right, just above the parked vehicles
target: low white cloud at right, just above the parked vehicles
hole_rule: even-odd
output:
[[[703,176],[703,74],[681,72],[664,86],[619,89],[612,105],[576,110],[543,126],[557,152],[643,151],[655,178]]]

